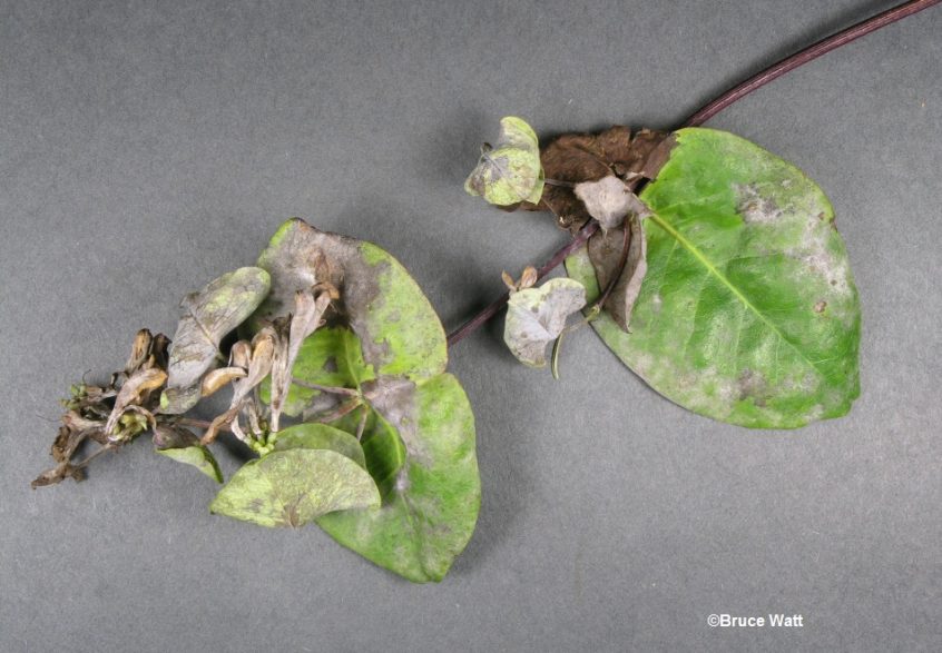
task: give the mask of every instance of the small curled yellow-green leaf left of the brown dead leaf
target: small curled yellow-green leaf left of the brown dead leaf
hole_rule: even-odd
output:
[[[497,146],[484,144],[481,148],[481,159],[464,182],[464,190],[498,206],[540,201],[540,145],[524,120],[514,116],[501,119]]]

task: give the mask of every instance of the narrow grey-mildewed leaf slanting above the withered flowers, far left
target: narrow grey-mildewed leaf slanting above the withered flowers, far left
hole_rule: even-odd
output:
[[[219,342],[255,311],[268,294],[268,273],[244,267],[184,298],[184,316],[170,348],[167,389],[160,409],[180,414],[199,400],[203,376],[222,360]]]

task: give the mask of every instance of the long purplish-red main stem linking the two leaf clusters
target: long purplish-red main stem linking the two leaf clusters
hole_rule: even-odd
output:
[[[907,16],[912,16],[923,9],[929,9],[933,4],[938,4],[942,2],[942,0],[910,0],[909,2],[903,2],[892,9],[884,11],[883,13],[877,13],[876,16],[869,18],[864,21],[861,21],[854,26],[848,27],[845,30],[837,32],[836,34],[832,34],[825,39],[822,39],[807,48],[795,52],[791,57],[786,57],[785,59],[778,61],[777,63],[773,63],[762,72],[754,75],[743,83],[733,87],[732,89],[727,90],[718,98],[713,100],[712,102],[705,105],[700,110],[696,113],[687,118],[680,127],[696,127],[703,125],[717,113],[719,113],[723,109],[729,107],[736,100],[744,98],[748,93],[753,92],[756,89],[759,89],[767,85],[768,82],[773,81],[785,75],[788,71],[798,68],[799,66],[804,66],[809,61],[814,61],[822,55],[826,55],[827,52],[840,48],[841,46],[845,46],[851,41],[858,39],[863,36],[866,36],[873,31],[879,30],[882,27],[886,27],[890,23],[896,22]],[[546,275],[552,271],[559,264],[561,264],[567,256],[579,249],[582,245],[585,245],[589,238],[591,238],[596,231],[599,229],[599,224],[595,220],[586,225],[581,231],[579,231],[571,241],[567,243],[563,247],[561,247],[556,254],[550,257],[550,259],[543,264],[541,268],[538,270],[538,279],[542,279]],[[498,299],[493,303],[484,307],[478,315],[469,319],[467,323],[458,327],[455,330],[449,334],[448,336],[448,346],[451,347],[457,343],[461,342],[465,336],[478,330],[484,323],[491,319],[494,315],[497,315],[501,308],[507,304],[507,299],[509,297],[508,293],[501,295]]]

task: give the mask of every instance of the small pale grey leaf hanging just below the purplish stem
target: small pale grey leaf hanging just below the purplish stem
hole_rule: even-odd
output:
[[[544,367],[547,346],[583,306],[586,289],[573,279],[550,279],[539,288],[513,293],[507,303],[503,340],[521,363]]]

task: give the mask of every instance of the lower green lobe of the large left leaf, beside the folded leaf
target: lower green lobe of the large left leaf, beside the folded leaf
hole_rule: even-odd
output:
[[[418,386],[415,416],[406,463],[383,507],[333,513],[317,523],[344,546],[422,583],[444,577],[471,537],[480,481],[474,418],[453,376],[440,375]]]

